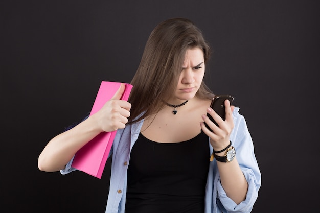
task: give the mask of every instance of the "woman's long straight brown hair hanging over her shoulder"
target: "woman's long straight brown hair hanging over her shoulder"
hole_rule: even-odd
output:
[[[164,106],[164,101],[172,96],[176,88],[186,51],[196,47],[203,51],[204,62],[207,62],[210,57],[209,44],[189,19],[171,18],[154,28],[131,81],[129,124],[157,113]],[[202,81],[196,96],[212,99],[213,93]],[[144,114],[138,117],[141,113]]]

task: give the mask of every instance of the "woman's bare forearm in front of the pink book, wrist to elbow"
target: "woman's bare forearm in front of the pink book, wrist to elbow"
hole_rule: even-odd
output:
[[[38,158],[39,169],[46,172],[64,169],[76,152],[101,132],[95,123],[96,121],[89,117],[74,128],[52,138]]]

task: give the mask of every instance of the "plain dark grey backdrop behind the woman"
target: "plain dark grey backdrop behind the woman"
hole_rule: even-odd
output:
[[[317,1],[1,2],[1,211],[104,212],[102,179],[37,168],[44,146],[90,111],[100,82],[130,82],[157,23],[193,20],[213,49],[207,82],[245,116],[262,173],[253,212],[319,200]]]

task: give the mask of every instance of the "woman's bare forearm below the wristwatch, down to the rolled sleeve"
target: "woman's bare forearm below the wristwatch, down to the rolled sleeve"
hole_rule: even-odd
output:
[[[240,169],[237,158],[231,162],[217,161],[220,182],[226,195],[239,204],[246,198],[248,183]]]

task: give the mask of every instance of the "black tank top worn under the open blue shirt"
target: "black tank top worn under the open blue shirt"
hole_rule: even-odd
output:
[[[125,212],[203,213],[209,160],[205,134],[157,143],[140,133],[131,150]]]

